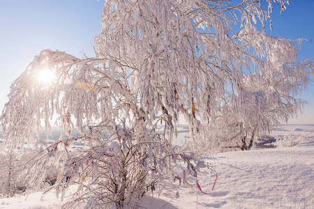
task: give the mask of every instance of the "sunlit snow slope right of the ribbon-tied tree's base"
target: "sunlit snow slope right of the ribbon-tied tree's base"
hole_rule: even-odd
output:
[[[167,192],[162,199],[172,208],[314,208],[314,141],[293,148],[220,153],[215,158],[218,180],[212,194],[183,188],[179,199]],[[211,191],[214,177],[200,175],[199,181],[203,191]],[[153,208],[154,201],[146,204]]]

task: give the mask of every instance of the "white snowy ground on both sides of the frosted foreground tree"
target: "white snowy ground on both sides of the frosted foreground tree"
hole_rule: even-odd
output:
[[[202,194],[192,181],[190,185],[175,183],[159,196],[147,193],[139,201],[140,208],[314,208],[314,125],[282,125],[271,136],[281,137],[292,130],[306,136],[306,140],[293,147],[202,157],[218,173],[211,194]],[[188,129],[178,129],[178,136],[181,141],[177,144],[184,143]],[[204,192],[211,192],[215,178],[207,169],[198,173]],[[0,199],[0,208],[60,208],[62,204],[55,191]]]

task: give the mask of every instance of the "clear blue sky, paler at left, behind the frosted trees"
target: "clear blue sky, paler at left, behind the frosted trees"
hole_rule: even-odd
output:
[[[10,84],[43,49],[94,56],[94,36],[101,31],[100,0],[0,0],[0,109],[8,102]],[[314,0],[290,0],[281,15],[274,3],[274,29],[267,33],[287,39],[306,38],[298,59],[314,57]],[[308,101],[304,114],[288,123],[314,124],[314,85],[301,95]]]

